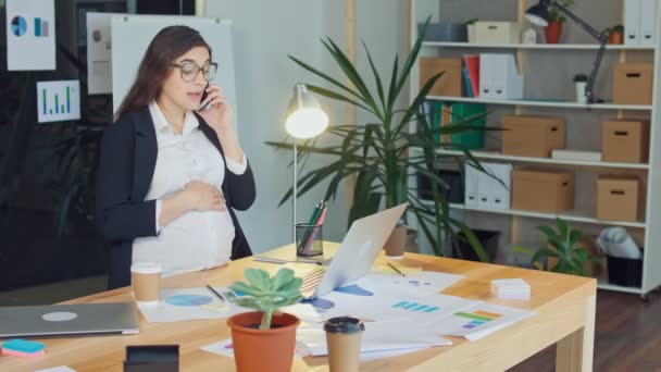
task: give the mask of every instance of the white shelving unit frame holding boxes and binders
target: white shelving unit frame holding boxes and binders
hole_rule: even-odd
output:
[[[424,20],[432,15],[432,22],[438,22],[438,14],[440,11],[439,0],[410,0],[411,1],[411,14],[410,14],[410,35],[411,46],[417,37],[417,24],[424,22]],[[593,1],[595,7],[599,4],[600,0],[586,0]],[[619,1],[619,0],[613,0]],[[623,1],[624,2],[624,1]],[[519,0],[516,18],[521,22],[523,20],[523,13],[528,5],[528,1]],[[514,16],[513,16],[514,17]],[[661,20],[661,1],[658,7],[658,20]],[[457,20],[453,22],[461,22],[464,20]],[[571,21],[570,21],[571,22]],[[461,52],[464,49],[470,49],[471,53],[479,52],[494,52],[497,49],[504,49],[504,51],[516,53],[517,59],[526,62],[527,53],[552,51],[552,53],[546,53],[545,59],[558,59],[563,61],[563,57],[573,55],[574,53],[595,52],[599,46],[595,44],[558,44],[558,45],[522,45],[522,44],[500,44],[500,45],[486,45],[486,44],[469,44],[469,42],[423,42],[420,57],[435,57],[442,55],[444,53]],[[578,110],[585,110],[586,112],[595,112],[597,117],[600,113],[610,113],[618,117],[626,117],[629,114],[634,114],[635,117],[649,117],[650,120],[650,146],[649,146],[649,161],[647,164],[633,164],[633,163],[613,163],[613,162],[593,162],[593,161],[570,161],[559,159],[547,159],[547,158],[526,158],[526,157],[513,157],[504,156],[497,152],[489,151],[473,151],[473,156],[477,159],[497,161],[497,162],[510,162],[510,163],[531,163],[531,164],[544,164],[544,165],[557,165],[562,168],[575,169],[576,172],[582,172],[586,169],[589,171],[597,170],[599,173],[607,174],[608,172],[634,172],[636,174],[644,174],[647,176],[647,193],[645,200],[645,222],[622,222],[622,221],[601,221],[594,216],[593,212],[589,211],[566,211],[560,214],[553,213],[539,213],[522,210],[497,210],[497,209],[477,209],[470,208],[462,203],[450,204],[451,210],[458,212],[470,212],[481,213],[486,218],[488,215],[506,215],[512,219],[512,225],[520,226],[520,221],[525,219],[542,219],[542,220],[554,220],[560,216],[566,221],[587,224],[593,226],[624,226],[635,228],[641,232],[643,247],[644,247],[644,262],[643,262],[643,284],[640,287],[624,287],[612,285],[600,278],[598,287],[609,290],[618,290],[623,293],[638,294],[646,296],[648,293],[661,285],[661,26],[657,27],[657,42],[651,46],[627,46],[627,45],[609,45],[607,47],[607,55],[615,53],[621,62],[625,62],[629,59],[628,55],[634,55],[633,60],[639,61],[640,55],[646,55],[644,60],[653,60],[653,99],[650,106],[640,104],[612,104],[612,103],[597,103],[597,104],[582,104],[572,101],[560,101],[553,100],[554,97],[549,97],[548,100],[492,100],[492,99],[479,99],[479,98],[467,98],[467,97],[445,97],[445,96],[428,96],[429,100],[449,101],[449,102],[465,102],[465,103],[484,103],[487,106],[509,106],[514,109],[516,114],[523,113],[525,110],[536,110],[538,108],[557,110],[557,115],[570,114]],[[563,63],[566,63],[563,61]],[[552,78],[552,71],[549,72],[549,78]],[[602,70],[600,71],[600,79],[609,78],[609,74]],[[413,66],[411,74],[411,86],[410,86],[410,101],[419,92],[419,67],[417,63]],[[526,78],[524,76],[524,84]],[[595,119],[598,121],[599,119]],[[572,125],[573,123],[568,123]],[[416,124],[411,124],[410,131],[415,131]],[[568,131],[569,133],[569,131]],[[416,151],[413,149],[412,151]],[[438,152],[449,157],[463,157],[461,151],[452,151],[439,149]],[[412,187],[415,187],[415,182],[412,181]],[[594,197],[594,196],[590,196]],[[515,223],[516,221],[516,223]],[[412,219],[412,224],[415,224],[415,220]],[[512,227],[514,232],[514,227]],[[512,234],[514,235],[514,233]]]

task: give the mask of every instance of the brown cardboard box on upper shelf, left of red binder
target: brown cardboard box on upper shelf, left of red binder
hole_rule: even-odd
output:
[[[421,58],[420,86],[442,72],[429,91],[432,96],[461,97],[461,58]]]

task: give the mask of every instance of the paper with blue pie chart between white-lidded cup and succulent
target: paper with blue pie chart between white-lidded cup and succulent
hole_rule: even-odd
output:
[[[221,293],[227,292],[222,287],[215,289]],[[251,311],[233,302],[221,301],[203,287],[163,289],[158,305],[138,303],[138,308],[149,323],[221,319]]]

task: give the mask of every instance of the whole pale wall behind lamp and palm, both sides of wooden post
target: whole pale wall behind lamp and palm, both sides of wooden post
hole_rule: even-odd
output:
[[[398,0],[356,1],[356,47],[358,66],[370,76],[361,39],[370,46],[375,63],[383,75],[388,75],[396,53],[402,53],[408,44],[407,2]],[[236,82],[241,144],[250,157],[258,181],[255,206],[239,216],[255,251],[275,247],[290,240],[291,204],[277,208],[283,194],[291,186],[291,171],[287,168],[291,153],[274,152],[265,140],[286,138],[284,111],[296,82],[320,84],[310,73],[287,59],[295,55],[325,72],[341,78],[320,39],[332,37],[345,47],[344,1],[280,0],[255,2],[239,0],[205,1],[205,16],[221,16],[234,22]],[[400,55],[400,59],[403,57]],[[344,78],[341,78],[344,80]],[[408,100],[404,95],[403,101]],[[322,99],[332,124],[347,124],[347,107]],[[371,117],[357,113],[357,122]],[[327,163],[314,159],[305,169]],[[325,185],[299,199],[299,220],[307,218],[319,201]],[[329,210],[324,238],[341,239],[347,228],[349,202],[342,186]]]

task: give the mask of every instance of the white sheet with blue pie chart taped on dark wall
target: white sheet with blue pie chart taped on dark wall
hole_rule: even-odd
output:
[[[7,0],[7,69],[55,70],[54,0]]]

